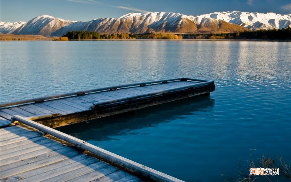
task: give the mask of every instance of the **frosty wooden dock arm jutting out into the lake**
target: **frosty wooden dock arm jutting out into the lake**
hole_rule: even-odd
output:
[[[213,81],[176,78],[111,86],[0,104],[0,127],[14,115],[51,128],[179,100],[214,91]]]

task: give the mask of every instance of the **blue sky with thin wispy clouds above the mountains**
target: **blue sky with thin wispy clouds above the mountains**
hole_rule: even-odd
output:
[[[222,11],[291,13],[291,0],[0,0],[0,21],[25,21],[39,15],[75,21],[119,18],[130,12],[201,15]]]

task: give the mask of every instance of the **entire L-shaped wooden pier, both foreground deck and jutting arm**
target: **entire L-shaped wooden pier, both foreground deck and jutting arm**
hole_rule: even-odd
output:
[[[178,78],[0,104],[0,181],[182,182],[52,127],[214,89],[213,81]]]

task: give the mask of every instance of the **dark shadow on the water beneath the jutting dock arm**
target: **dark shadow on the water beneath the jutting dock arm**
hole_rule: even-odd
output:
[[[112,140],[110,136],[126,135],[130,130],[154,127],[196,112],[213,110],[215,99],[209,95],[194,96],[82,123],[55,128],[82,140]]]

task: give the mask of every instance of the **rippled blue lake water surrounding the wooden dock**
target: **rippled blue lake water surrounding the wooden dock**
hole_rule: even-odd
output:
[[[214,80],[210,96],[58,128],[166,174],[236,181],[250,153],[291,162],[291,42],[0,42],[0,51],[1,103],[174,77]]]

